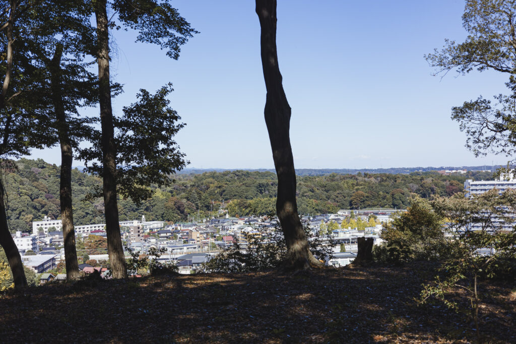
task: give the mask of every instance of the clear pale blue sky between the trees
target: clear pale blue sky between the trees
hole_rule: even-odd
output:
[[[176,141],[189,167],[273,168],[254,2],[172,5],[200,31],[178,61],[134,43],[134,32],[112,33],[111,73],[125,85],[114,110],[134,102],[138,89],[154,92],[171,81],[171,106],[187,124]],[[464,39],[463,8],[461,0],[278,0],[278,58],[296,168],[506,163],[467,151],[450,109],[505,92],[507,77],[473,72],[441,79],[423,57],[445,38]],[[60,165],[58,149],[32,157]]]

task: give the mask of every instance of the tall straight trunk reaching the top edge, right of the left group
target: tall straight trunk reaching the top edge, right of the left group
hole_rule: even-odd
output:
[[[95,1],[95,18],[98,37],[99,105],[102,127],[103,191],[106,214],[107,251],[113,277],[127,277],[117,205],[117,163],[115,129],[111,110],[109,84],[109,32],[106,0]]]

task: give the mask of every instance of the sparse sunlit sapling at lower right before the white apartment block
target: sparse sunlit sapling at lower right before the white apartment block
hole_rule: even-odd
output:
[[[514,280],[516,276],[516,230],[506,229],[513,221],[508,214],[516,210],[516,190],[509,189],[499,195],[493,189],[470,199],[439,198],[432,206],[447,219],[446,231],[453,239],[449,242],[451,250],[446,259],[441,259],[441,276],[424,286],[420,302],[437,299],[460,310],[461,303],[449,298],[460,288],[469,298],[480,340],[480,284],[494,278]],[[479,229],[470,230],[472,225]]]

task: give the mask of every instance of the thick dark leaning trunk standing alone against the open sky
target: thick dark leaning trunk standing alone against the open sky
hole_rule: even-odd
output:
[[[267,89],[265,123],[278,175],[276,212],[287,246],[285,266],[308,269],[310,266],[320,266],[321,263],[308,248],[307,236],[297,212],[296,171],[289,138],[291,108],[283,90],[276,51],[276,0],[256,0],[256,14],[262,29],[262,67]]]

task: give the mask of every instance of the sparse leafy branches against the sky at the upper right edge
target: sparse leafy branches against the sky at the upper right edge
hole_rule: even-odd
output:
[[[466,0],[462,15],[467,31],[464,42],[445,40],[441,51],[425,56],[436,74],[494,70],[508,75],[508,94],[495,95],[494,104],[480,95],[452,109],[451,118],[459,122],[467,135],[467,148],[477,156],[493,152],[513,156],[516,152],[515,17],[512,0]]]

